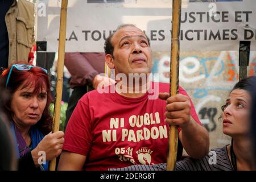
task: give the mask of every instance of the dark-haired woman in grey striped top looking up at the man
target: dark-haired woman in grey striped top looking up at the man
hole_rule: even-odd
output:
[[[232,137],[231,145],[212,149],[203,159],[185,158],[176,163],[176,171],[246,171],[256,170],[254,163],[254,142],[251,140],[251,88],[256,77],[245,78],[229,94],[221,107],[223,133]],[[255,82],[254,82],[255,83]],[[255,116],[255,113],[252,113]],[[255,123],[255,121],[254,121]],[[255,129],[254,129],[255,132]],[[195,146],[198,147],[198,146]],[[134,165],[110,170],[166,170],[166,163],[151,166]]]

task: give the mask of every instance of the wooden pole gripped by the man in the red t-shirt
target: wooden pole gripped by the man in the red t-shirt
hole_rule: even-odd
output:
[[[172,0],[172,40],[170,65],[170,96],[179,91],[179,34],[180,34],[181,0]],[[167,170],[174,170],[177,158],[178,131],[177,126],[170,126],[169,152]]]

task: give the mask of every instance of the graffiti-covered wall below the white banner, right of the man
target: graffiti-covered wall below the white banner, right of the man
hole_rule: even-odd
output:
[[[169,82],[170,56],[156,55],[153,72],[159,73],[160,82]],[[218,146],[227,140],[218,138],[222,134],[221,106],[239,78],[237,51],[181,52],[180,85],[191,97],[200,121],[213,136],[212,145]],[[256,75],[256,52],[250,52],[247,75]]]

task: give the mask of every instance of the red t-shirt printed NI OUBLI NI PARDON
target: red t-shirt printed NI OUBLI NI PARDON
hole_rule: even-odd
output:
[[[159,92],[169,92],[169,84],[158,84]],[[181,87],[179,93],[187,96]],[[63,150],[85,155],[85,170],[166,162],[169,131],[164,122],[166,101],[155,94],[152,99],[150,93],[139,98],[97,90],[86,93],[69,119]],[[191,115],[200,123],[192,102]]]

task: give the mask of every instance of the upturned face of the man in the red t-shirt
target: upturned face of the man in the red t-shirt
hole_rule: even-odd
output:
[[[151,72],[152,52],[142,30],[133,26],[123,27],[115,32],[111,42],[114,52],[110,68],[115,69],[115,75]]]

